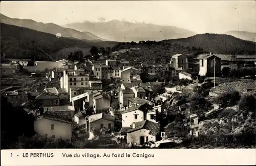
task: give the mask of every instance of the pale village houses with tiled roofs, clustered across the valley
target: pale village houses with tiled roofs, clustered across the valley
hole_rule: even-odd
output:
[[[202,76],[214,73],[214,68],[217,74],[221,71],[221,59],[216,55],[201,57],[199,62],[199,74]],[[27,64],[22,60],[15,61],[17,63],[23,66]],[[169,70],[180,79],[191,79],[191,75],[184,72],[188,68],[188,61],[183,54],[174,55],[166,65],[132,65],[129,61],[116,59],[106,60],[105,64],[78,65],[67,60],[49,65],[37,61],[34,63],[34,66],[42,65],[44,69],[50,69],[46,77],[59,80],[60,88],[46,87],[38,93],[11,87],[1,90],[1,94],[12,101],[17,100],[19,105],[26,105],[30,100],[41,101],[44,113],[36,115],[35,131],[41,135],[70,140],[74,126],[89,132],[89,138],[93,139],[100,135],[102,128],[113,131],[116,121],[121,122],[119,136],[126,139],[128,144],[141,145],[165,138],[159,123],[163,118],[162,102],[180,91],[172,89],[156,95],[156,87],[163,82],[143,83],[140,74],[154,76],[158,70]],[[121,85],[111,93],[103,92],[103,79],[118,79]],[[114,102],[119,103],[119,108],[111,107]]]

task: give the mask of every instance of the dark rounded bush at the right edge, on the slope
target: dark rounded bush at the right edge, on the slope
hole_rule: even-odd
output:
[[[256,110],[256,98],[252,95],[244,95],[239,101],[239,109],[243,111],[254,112]]]

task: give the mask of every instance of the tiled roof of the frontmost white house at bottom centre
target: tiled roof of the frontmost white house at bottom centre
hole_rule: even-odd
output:
[[[156,136],[160,132],[160,124],[145,120],[135,123],[135,128],[129,129],[127,132],[130,133],[141,129],[150,130],[149,134]]]

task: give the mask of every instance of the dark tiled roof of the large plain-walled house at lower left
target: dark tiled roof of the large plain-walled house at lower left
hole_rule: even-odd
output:
[[[57,121],[57,122],[69,123],[69,124],[71,124],[72,122],[71,116],[63,115],[56,112],[49,112],[49,111],[46,111],[44,115],[42,115],[42,118],[46,118],[48,120]]]

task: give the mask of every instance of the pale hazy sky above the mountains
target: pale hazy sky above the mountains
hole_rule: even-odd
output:
[[[125,19],[185,28],[197,33],[255,32],[255,1],[13,1],[1,13],[65,25],[84,20]]]

